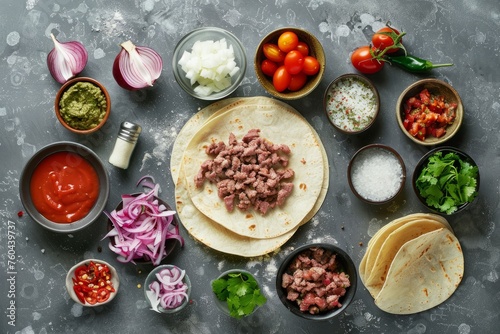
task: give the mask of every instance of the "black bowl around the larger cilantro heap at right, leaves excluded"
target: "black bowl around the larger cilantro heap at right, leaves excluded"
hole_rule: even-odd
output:
[[[420,174],[422,173],[422,170],[428,166],[429,164],[429,158],[431,156],[433,156],[434,154],[436,153],[439,153],[441,152],[442,156],[445,156],[446,154],[448,153],[456,153],[460,160],[462,161],[465,161],[465,162],[468,162],[470,165],[472,166],[475,166],[477,167],[477,164],[476,162],[465,152],[457,149],[457,148],[454,148],[454,147],[450,147],[450,146],[441,146],[441,147],[437,147],[437,148],[434,148],[432,150],[430,150],[429,152],[427,152],[424,156],[422,156],[422,158],[420,158],[420,160],[418,161],[417,165],[415,166],[415,169],[413,171],[413,176],[412,176],[412,185],[413,185],[413,191],[415,192],[415,195],[417,196],[417,198],[419,199],[419,201],[427,208],[429,209],[430,211],[434,212],[434,213],[438,213],[438,214],[441,214],[441,215],[448,215],[448,213],[446,212],[443,212],[429,204],[427,204],[427,200],[426,198],[424,198],[421,194],[420,194],[420,190],[417,188],[417,179],[418,177],[420,176]],[[457,168],[460,168],[460,164],[458,162],[456,162],[455,164],[455,167]],[[479,170],[477,171],[477,177],[476,177],[476,193],[479,192],[479,183],[480,183],[480,176],[479,176]],[[477,197],[477,196],[476,196]],[[471,201],[471,202],[466,202],[466,203],[463,203],[462,205],[459,205],[457,207],[457,210],[450,213],[450,214],[456,214],[458,212],[461,212],[463,210],[465,210],[467,207],[469,207],[469,205],[471,203],[473,203],[474,201]]]

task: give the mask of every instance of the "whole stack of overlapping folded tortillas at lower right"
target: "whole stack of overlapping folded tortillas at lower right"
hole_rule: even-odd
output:
[[[462,248],[448,221],[416,213],[396,219],[371,238],[360,266],[375,304],[393,314],[435,307],[457,289],[464,273]]]

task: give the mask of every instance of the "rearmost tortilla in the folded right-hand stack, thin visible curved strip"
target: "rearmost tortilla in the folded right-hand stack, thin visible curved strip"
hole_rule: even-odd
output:
[[[377,259],[377,256],[380,252],[380,248],[382,247],[386,238],[399,227],[415,220],[437,221],[450,231],[453,231],[450,224],[444,217],[432,213],[413,213],[391,221],[390,223],[379,229],[368,242],[366,252],[359,265],[359,277],[363,284],[366,285],[368,280],[367,276],[370,275],[375,260]]]

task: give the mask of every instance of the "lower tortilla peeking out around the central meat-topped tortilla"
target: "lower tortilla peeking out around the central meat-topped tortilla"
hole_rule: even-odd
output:
[[[195,114],[193,117],[191,117],[179,132],[172,149],[171,174],[174,183],[176,184],[177,212],[180,217],[181,223],[190,233],[190,235],[194,239],[217,251],[243,257],[254,257],[267,254],[278,249],[293,236],[297,229],[291,230],[276,238],[254,239],[242,237],[222,227],[220,224],[203,215],[193,205],[189,197],[189,193],[187,192],[184,181],[184,176],[179,177],[179,173],[184,175],[184,172],[181,172],[181,161],[186,146],[189,143],[191,137],[210,118],[217,117],[225,112],[231,112],[232,108],[239,105],[281,106],[282,108],[288,108],[291,112],[294,112],[297,116],[300,116],[300,114],[295,109],[285,104],[284,102],[267,97],[232,98],[224,99],[210,104],[209,106],[205,107],[197,114]],[[304,122],[307,123],[305,119]],[[315,134],[316,139],[321,142],[316,131],[312,127],[310,128],[311,131]],[[304,217],[301,225],[308,222],[319,211],[328,192],[329,165],[326,150],[323,145],[321,145],[321,151],[323,156],[324,179],[320,196],[318,197],[312,210],[306,215],[306,217]]]

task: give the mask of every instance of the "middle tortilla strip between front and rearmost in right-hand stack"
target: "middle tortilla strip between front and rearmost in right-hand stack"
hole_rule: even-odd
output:
[[[370,267],[368,277],[365,276],[365,287],[375,298],[387,279],[387,273],[392,261],[399,249],[408,241],[413,240],[422,234],[443,229],[444,225],[439,221],[429,219],[416,219],[409,221],[396,228],[386,238],[384,238],[378,255]]]

